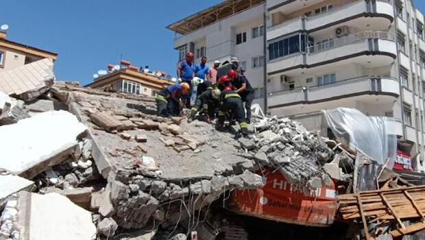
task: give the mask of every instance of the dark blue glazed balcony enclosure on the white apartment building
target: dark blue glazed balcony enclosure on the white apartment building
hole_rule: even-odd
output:
[[[301,43],[301,45],[300,45]],[[269,60],[274,60],[305,49],[306,36],[295,35],[269,44]]]

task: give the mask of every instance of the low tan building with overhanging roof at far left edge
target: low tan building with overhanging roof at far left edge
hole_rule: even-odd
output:
[[[58,57],[57,53],[16,43],[6,38],[7,33],[0,31],[0,72],[21,67],[43,58],[55,61]]]

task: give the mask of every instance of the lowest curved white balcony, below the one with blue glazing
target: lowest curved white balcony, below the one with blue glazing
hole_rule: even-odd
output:
[[[316,104],[361,95],[387,95],[396,98],[400,95],[398,80],[392,77],[363,76],[340,80],[324,86],[278,91],[270,93],[269,107]],[[389,102],[393,101],[393,98],[388,99]],[[387,101],[387,99],[385,100]]]

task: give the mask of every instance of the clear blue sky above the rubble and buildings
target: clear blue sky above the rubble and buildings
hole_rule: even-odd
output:
[[[175,75],[174,33],[167,25],[220,0],[0,0],[8,39],[59,53],[58,80],[93,81],[121,54],[137,67]],[[415,0],[425,13],[425,1]]]

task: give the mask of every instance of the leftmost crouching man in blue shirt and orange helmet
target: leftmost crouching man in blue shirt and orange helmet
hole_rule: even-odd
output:
[[[156,95],[156,109],[158,115],[162,117],[178,116],[183,104],[185,104],[185,96],[189,94],[191,87],[186,82],[181,84],[173,84],[162,89]],[[183,99],[183,104],[180,103]]]

